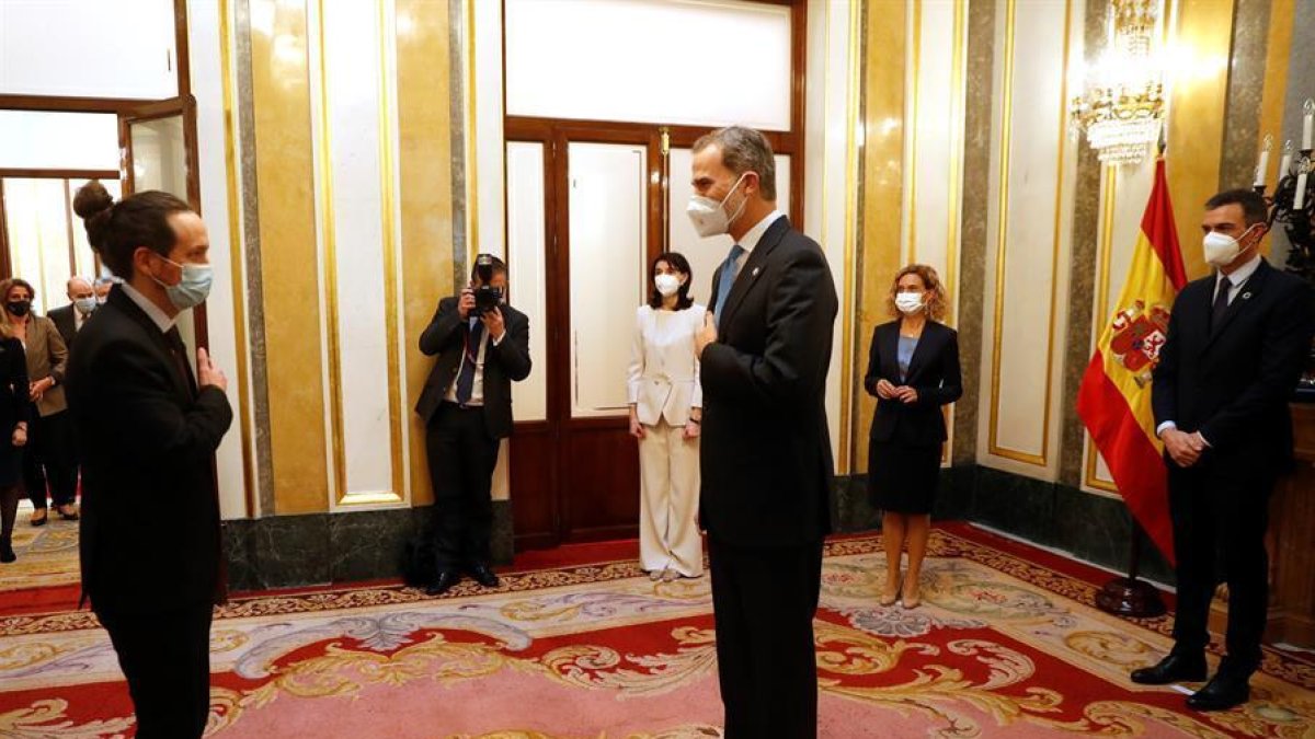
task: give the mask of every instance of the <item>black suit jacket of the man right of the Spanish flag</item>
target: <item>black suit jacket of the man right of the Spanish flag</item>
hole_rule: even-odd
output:
[[[1261,260],[1211,330],[1214,293],[1210,275],[1173,301],[1153,371],[1156,426],[1201,431],[1211,448],[1198,464],[1264,472],[1291,460],[1287,400],[1311,350],[1311,288]]]

